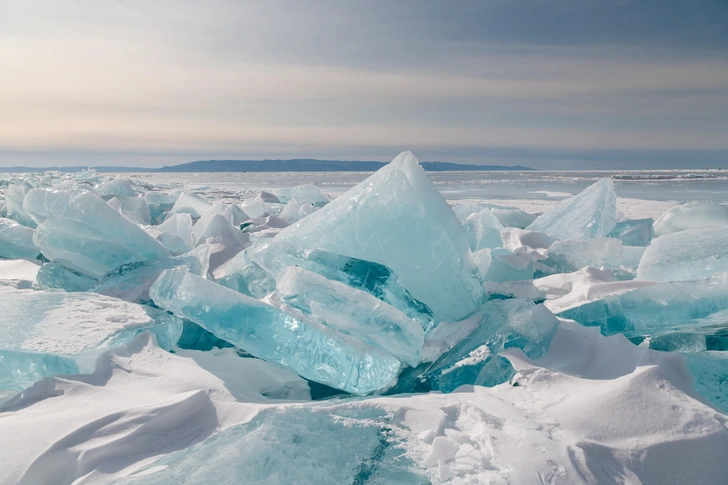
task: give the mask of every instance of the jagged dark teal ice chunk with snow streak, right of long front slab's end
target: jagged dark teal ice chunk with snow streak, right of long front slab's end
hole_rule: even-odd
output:
[[[558,329],[558,319],[543,305],[530,300],[494,300],[484,304],[468,318],[446,322],[428,337],[428,344],[447,343],[458,338],[451,348],[429,366],[405,371],[395,389],[454,391],[461,385],[495,386],[514,373],[510,363],[498,354],[518,348],[532,359],[543,355]],[[443,337],[445,336],[445,337]]]

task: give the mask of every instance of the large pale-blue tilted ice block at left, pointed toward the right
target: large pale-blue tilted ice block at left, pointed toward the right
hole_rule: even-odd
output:
[[[169,256],[159,241],[90,192],[34,189],[23,207],[40,223],[33,241],[43,255],[89,276]]]

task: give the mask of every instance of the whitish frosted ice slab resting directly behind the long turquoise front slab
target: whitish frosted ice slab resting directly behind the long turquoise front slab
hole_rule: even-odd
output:
[[[415,366],[424,330],[414,320],[369,293],[299,267],[286,268],[276,296],[327,327],[350,335]]]

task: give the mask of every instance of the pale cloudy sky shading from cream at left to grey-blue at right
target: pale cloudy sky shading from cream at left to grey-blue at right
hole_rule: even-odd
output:
[[[0,167],[728,168],[726,0],[0,0]]]

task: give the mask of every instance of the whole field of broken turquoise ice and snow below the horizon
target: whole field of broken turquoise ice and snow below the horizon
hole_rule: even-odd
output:
[[[728,482],[721,171],[0,192],[2,485]]]

